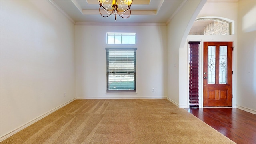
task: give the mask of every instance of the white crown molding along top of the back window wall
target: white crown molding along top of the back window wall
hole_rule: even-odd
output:
[[[87,25],[87,26],[166,26],[166,23],[102,23],[102,22],[76,22],[75,25]]]

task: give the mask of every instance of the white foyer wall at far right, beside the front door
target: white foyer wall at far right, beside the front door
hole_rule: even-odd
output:
[[[238,1],[237,107],[256,114],[256,1]]]

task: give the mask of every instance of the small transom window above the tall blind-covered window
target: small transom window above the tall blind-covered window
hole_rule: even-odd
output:
[[[136,44],[136,33],[107,33],[107,44]]]

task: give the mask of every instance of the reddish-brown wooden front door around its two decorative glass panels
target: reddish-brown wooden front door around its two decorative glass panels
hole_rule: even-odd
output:
[[[230,107],[232,106],[232,71],[233,71],[233,42],[204,42],[203,44],[204,46],[204,62],[203,62],[203,70],[204,72],[206,72],[206,75],[204,74],[204,77],[206,77],[206,79],[204,79],[204,86],[203,86],[203,91],[204,91],[204,96],[203,96],[203,101],[204,101],[204,107]],[[214,61],[216,62],[216,64],[214,65],[214,73],[216,74],[216,78],[214,76],[214,84],[208,84],[208,79],[209,79],[209,68],[208,68],[208,62],[209,61],[209,50],[208,47],[209,46],[215,46],[215,53],[216,53],[216,60],[214,58]],[[219,80],[221,80],[221,76],[219,75],[219,73],[221,74],[221,62],[222,60],[220,60],[220,56],[221,56],[221,51],[220,51],[220,46],[227,46],[226,49],[226,83],[225,84],[219,84]],[[206,50],[206,51],[205,51]],[[222,58],[223,59],[223,58]],[[215,72],[216,70],[216,72]],[[215,98],[213,98],[212,100],[208,100],[208,92],[212,92],[215,94]],[[221,94],[221,92],[224,92],[223,94]],[[225,93],[226,92],[226,93]],[[212,94],[211,96],[214,96],[214,94]],[[218,98],[216,99],[216,94],[218,96]],[[226,94],[226,95],[225,95]],[[221,97],[225,96],[225,99],[222,99]]]

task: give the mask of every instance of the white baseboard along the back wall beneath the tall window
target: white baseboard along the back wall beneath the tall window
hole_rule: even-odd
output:
[[[108,99],[166,99],[166,97],[80,97],[77,100],[108,100]]]

